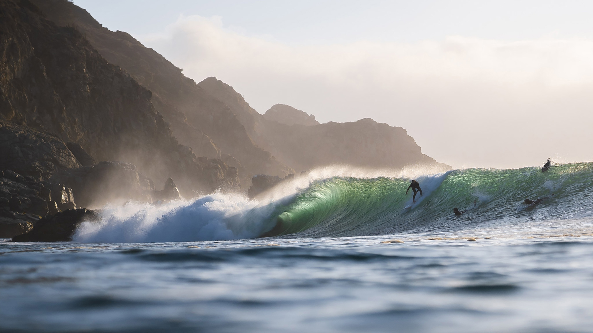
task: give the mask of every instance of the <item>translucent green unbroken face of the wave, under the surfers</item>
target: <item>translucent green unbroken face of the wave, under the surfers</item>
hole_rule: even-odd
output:
[[[280,210],[276,227],[266,236],[365,236],[495,220],[593,216],[591,162],[561,164],[545,173],[537,167],[465,169],[416,180],[423,196],[418,194],[409,209],[404,209],[412,204],[412,190],[406,195],[409,179],[333,177],[314,182]],[[544,201],[532,210],[522,204],[525,198]],[[451,220],[454,207],[468,210],[460,221]]]

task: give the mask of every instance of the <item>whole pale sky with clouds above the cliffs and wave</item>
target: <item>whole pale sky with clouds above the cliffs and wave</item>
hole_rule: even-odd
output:
[[[74,3],[260,113],[401,126],[455,168],[593,160],[591,1]]]

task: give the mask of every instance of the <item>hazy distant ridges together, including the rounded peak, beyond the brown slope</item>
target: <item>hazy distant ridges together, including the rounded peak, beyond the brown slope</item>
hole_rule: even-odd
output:
[[[216,78],[206,78],[198,85],[225,103],[238,119],[245,119],[244,126],[253,132],[260,147],[297,172],[328,164],[391,169],[428,164],[450,169],[422,154],[401,127],[368,118],[320,124],[314,116],[284,104],[276,104],[260,115],[241,94]]]

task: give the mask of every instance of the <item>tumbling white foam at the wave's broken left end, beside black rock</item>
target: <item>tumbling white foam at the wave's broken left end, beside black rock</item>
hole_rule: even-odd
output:
[[[100,223],[82,223],[76,242],[139,243],[243,239],[259,236],[273,205],[240,194],[212,194],[163,205],[108,205]]]

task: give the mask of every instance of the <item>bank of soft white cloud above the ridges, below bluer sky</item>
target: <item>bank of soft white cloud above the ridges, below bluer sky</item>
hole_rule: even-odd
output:
[[[454,166],[593,159],[593,40],[288,46],[199,16],[141,40],[196,81],[233,85],[260,113],[285,103],[321,122],[403,126]]]

